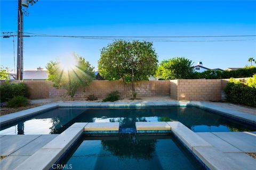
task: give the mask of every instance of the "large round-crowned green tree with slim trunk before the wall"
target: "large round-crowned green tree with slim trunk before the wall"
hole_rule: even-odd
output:
[[[157,68],[157,54],[153,44],[143,41],[116,40],[101,49],[99,73],[107,80],[131,83],[136,98],[135,82],[148,80]]]

